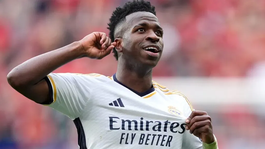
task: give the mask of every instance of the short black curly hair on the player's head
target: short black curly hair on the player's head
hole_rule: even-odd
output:
[[[156,15],[155,7],[152,6],[150,2],[144,0],[133,0],[132,2],[126,2],[123,7],[117,7],[116,10],[112,12],[112,16],[109,19],[109,38],[114,41],[114,33],[117,25],[122,21],[125,21],[127,15],[139,11],[151,12]],[[116,60],[118,60],[118,52],[116,51],[116,48],[113,48],[112,52],[114,53]]]

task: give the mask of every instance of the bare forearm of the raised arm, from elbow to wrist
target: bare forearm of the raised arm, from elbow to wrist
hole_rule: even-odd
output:
[[[7,76],[8,82],[11,86],[34,85],[61,65],[82,57],[84,51],[81,47],[78,42],[74,42],[31,58],[12,69]]]

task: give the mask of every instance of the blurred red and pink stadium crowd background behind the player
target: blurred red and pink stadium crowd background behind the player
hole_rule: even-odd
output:
[[[6,75],[25,60],[78,41],[91,32],[108,33],[112,11],[125,2],[0,0],[1,149],[78,148],[73,122],[17,93],[8,85]],[[257,110],[264,107],[265,100],[262,81],[265,0],[151,0],[151,3],[156,6],[164,29],[163,56],[153,71],[154,77],[161,80],[157,82],[187,90],[193,107],[207,110],[220,149],[265,148],[265,114],[262,108]],[[102,60],[74,60],[55,72],[112,76],[116,64],[111,54]],[[183,85],[168,82],[172,78],[184,82]],[[200,87],[209,85],[204,81],[215,78],[219,81],[212,81],[214,86],[208,86],[205,94],[197,96]],[[249,88],[239,90],[241,82],[249,79],[250,86],[242,83]],[[219,89],[219,84],[224,87]],[[232,92],[226,84],[234,86],[231,90],[238,90]],[[211,97],[206,98],[208,93]],[[242,96],[246,93],[247,98]],[[231,94],[235,96],[231,98]]]

